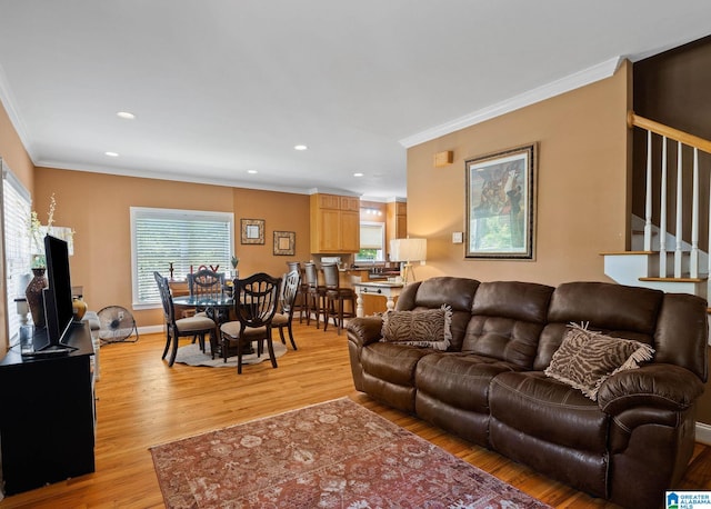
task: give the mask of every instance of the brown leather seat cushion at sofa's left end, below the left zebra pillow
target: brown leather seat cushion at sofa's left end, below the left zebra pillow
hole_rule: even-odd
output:
[[[377,379],[398,386],[414,387],[414,368],[422,357],[432,351],[379,341],[363,347],[360,362],[363,371]]]

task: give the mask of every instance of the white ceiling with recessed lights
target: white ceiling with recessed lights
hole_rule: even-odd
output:
[[[0,0],[0,100],[37,166],[388,200],[407,147],[709,20],[709,0]]]

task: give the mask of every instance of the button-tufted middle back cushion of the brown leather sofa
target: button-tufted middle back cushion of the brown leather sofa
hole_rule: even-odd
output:
[[[482,282],[474,296],[462,351],[530,369],[553,290],[530,282]]]

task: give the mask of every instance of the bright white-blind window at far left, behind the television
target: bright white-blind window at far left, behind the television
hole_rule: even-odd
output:
[[[4,273],[6,273],[6,316],[8,317],[8,338],[10,345],[17,340],[20,316],[14,299],[24,297],[30,279],[30,238],[28,221],[30,218],[30,193],[22,182],[0,161],[2,167],[2,204],[4,233]]]

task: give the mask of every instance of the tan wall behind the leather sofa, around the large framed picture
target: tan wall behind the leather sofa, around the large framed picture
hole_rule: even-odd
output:
[[[628,230],[628,64],[615,76],[408,150],[408,233],[428,238],[417,279],[455,275],[558,285],[608,280],[602,251],[625,247]],[[464,258],[464,161],[538,142],[534,261]],[[454,162],[433,168],[433,154]]]

